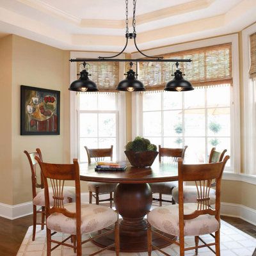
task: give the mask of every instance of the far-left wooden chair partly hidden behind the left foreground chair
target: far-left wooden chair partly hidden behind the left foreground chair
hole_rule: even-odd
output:
[[[42,153],[39,148],[36,148],[36,152],[29,153],[27,150],[24,151],[28,157],[30,169],[31,169],[31,180],[32,180],[32,196],[33,196],[33,236],[32,241],[35,241],[36,236],[36,225],[41,225],[41,229],[44,229],[45,225],[45,198],[44,198],[44,181],[41,175],[41,170],[36,167],[38,163],[35,160],[35,157],[38,157],[40,161],[43,161]],[[51,191],[52,193],[52,191]],[[66,202],[72,202],[76,199],[75,188],[65,187],[63,191]],[[52,200],[51,200],[52,203]],[[39,207],[39,209],[36,209]],[[37,214],[41,214],[41,222],[36,223]]]

